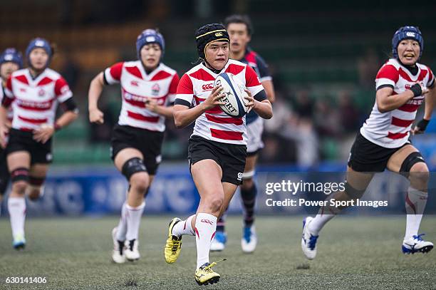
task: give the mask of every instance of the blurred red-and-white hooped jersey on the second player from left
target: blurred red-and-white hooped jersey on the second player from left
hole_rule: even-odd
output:
[[[28,68],[15,71],[6,82],[5,95],[14,112],[12,128],[24,131],[54,125],[58,103],[73,97],[65,79],[50,68],[34,79]]]

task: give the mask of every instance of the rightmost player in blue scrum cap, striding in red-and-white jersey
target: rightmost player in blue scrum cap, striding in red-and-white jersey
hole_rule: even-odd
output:
[[[404,254],[425,253],[433,248],[432,242],[423,240],[422,234],[418,234],[427,202],[429,170],[420,152],[408,141],[410,133],[424,133],[435,105],[435,77],[430,68],[417,63],[423,45],[421,31],[415,26],[403,26],[395,32],[393,58],[375,77],[377,93],[373,110],[351,147],[345,191],[331,197],[357,200],[374,173],[385,169],[408,177]],[[424,118],[412,129],[417,108],[423,100]],[[316,242],[322,227],[341,209],[343,207],[321,207],[316,217],[304,219],[301,248],[308,259],[316,256]]]

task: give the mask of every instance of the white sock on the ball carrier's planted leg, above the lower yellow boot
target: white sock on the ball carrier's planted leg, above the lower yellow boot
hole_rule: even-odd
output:
[[[197,244],[197,269],[209,263],[210,244],[217,230],[217,217],[212,214],[197,214],[195,219],[195,242]]]

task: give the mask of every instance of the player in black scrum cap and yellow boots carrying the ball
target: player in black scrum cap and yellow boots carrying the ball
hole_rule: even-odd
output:
[[[229,60],[229,34],[222,24],[207,24],[197,30],[197,52],[202,63],[185,73],[177,88],[174,116],[177,128],[195,122],[189,140],[190,172],[200,195],[197,214],[185,221],[170,222],[164,255],[174,263],[180,254],[182,235],[196,236],[197,284],[213,284],[219,274],[209,264],[209,249],[217,219],[227,209],[242,182],[246,160],[245,116],[232,118],[219,107],[224,104],[222,87],[213,87],[219,73],[234,74],[246,86],[249,107],[261,118],[271,118],[272,108],[253,68]]]

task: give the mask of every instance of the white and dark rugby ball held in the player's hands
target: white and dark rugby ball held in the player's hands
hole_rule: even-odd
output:
[[[246,114],[248,101],[244,98],[246,92],[244,83],[235,78],[232,73],[220,73],[215,79],[214,86],[221,84],[222,93],[225,93],[221,100],[223,105],[219,105],[227,115],[240,118]]]

